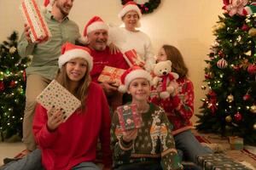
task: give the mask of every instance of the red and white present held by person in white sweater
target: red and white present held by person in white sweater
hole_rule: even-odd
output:
[[[137,54],[135,49],[125,51],[124,58],[130,66],[137,65],[143,67],[145,65],[145,61]]]

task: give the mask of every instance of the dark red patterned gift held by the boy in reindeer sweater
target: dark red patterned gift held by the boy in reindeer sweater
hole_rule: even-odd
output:
[[[122,131],[128,131],[134,128],[142,127],[142,116],[137,113],[137,105],[121,105],[117,108],[119,123]]]

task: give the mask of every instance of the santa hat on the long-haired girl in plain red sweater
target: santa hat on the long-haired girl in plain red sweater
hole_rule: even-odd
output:
[[[70,59],[82,58],[87,61],[88,70],[92,69],[92,57],[90,56],[90,48],[74,45],[66,42],[61,47],[61,56],[59,57],[59,68],[62,67]]]

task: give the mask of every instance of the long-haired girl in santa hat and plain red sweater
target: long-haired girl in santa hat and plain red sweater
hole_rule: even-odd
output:
[[[38,104],[33,133],[39,149],[10,162],[4,170],[100,170],[94,164],[98,139],[102,142],[103,169],[112,166],[108,102],[101,86],[90,81],[90,49],[66,43],[58,63],[55,80],[81,101],[81,107],[64,122],[61,108],[47,111]]]

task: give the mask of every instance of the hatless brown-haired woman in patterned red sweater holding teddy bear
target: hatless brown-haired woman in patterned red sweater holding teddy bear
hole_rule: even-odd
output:
[[[159,96],[154,95],[150,101],[160,105],[166,111],[166,115],[173,125],[172,134],[176,148],[180,153],[183,153],[183,159],[196,162],[196,156],[212,153],[212,150],[203,147],[190,130],[193,128],[190,118],[194,115],[193,83],[188,78],[188,68],[177,48],[163,45],[160,48],[157,61],[165,60],[172,61],[172,71],[179,75],[176,94],[168,99],[160,99]]]

